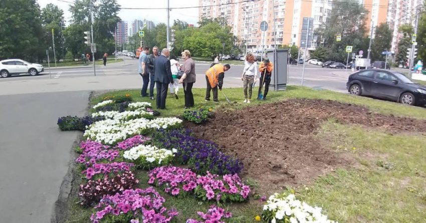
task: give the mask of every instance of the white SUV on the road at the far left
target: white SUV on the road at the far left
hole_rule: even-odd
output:
[[[43,72],[44,68],[40,64],[32,64],[25,60],[10,59],[0,61],[0,77],[7,78],[13,74],[28,73],[31,76],[36,76]]]

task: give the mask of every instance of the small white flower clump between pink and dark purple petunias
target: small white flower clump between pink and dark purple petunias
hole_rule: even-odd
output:
[[[173,160],[175,149],[160,149],[151,145],[138,145],[124,152],[123,157],[135,163],[136,167],[151,169],[167,165]]]

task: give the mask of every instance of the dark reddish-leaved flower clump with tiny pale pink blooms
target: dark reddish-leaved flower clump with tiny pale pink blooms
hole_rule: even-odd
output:
[[[103,195],[114,195],[126,189],[132,189],[139,180],[135,178],[131,171],[123,171],[113,177],[106,175],[102,179],[89,180],[86,184],[80,185],[78,195],[80,204],[93,205],[101,200]]]

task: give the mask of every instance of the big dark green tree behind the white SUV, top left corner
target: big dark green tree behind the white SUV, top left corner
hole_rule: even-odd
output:
[[[46,46],[37,1],[2,0],[0,5],[0,58],[42,60]]]

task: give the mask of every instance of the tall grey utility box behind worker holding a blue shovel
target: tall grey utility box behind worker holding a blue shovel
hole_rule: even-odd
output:
[[[270,89],[275,91],[282,91],[287,89],[288,84],[288,60],[289,51],[287,49],[277,49],[268,51],[266,56],[274,64],[272,72]]]

